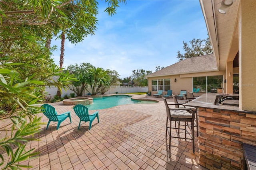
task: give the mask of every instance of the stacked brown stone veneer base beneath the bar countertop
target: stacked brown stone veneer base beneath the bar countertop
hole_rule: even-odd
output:
[[[199,127],[200,165],[243,169],[242,143],[256,146],[256,114],[199,108]]]

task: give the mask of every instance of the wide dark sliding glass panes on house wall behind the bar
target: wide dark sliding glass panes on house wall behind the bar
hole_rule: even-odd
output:
[[[223,88],[223,76],[193,77],[193,92],[200,89],[199,92],[216,93],[217,88]]]

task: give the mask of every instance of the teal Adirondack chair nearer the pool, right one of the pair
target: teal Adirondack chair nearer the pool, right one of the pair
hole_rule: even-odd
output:
[[[97,117],[98,123],[100,123],[99,114],[98,114],[99,111],[95,111],[93,114],[89,115],[88,108],[82,104],[78,104],[74,106],[73,109],[76,115],[80,118],[78,129],[80,128],[81,121],[85,121],[85,122],[90,121],[89,123],[89,130],[90,130],[92,126],[92,121],[94,121],[95,117]]]

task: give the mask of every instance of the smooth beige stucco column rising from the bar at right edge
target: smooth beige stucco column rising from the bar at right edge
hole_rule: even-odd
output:
[[[239,7],[239,107],[256,111],[256,1]]]

